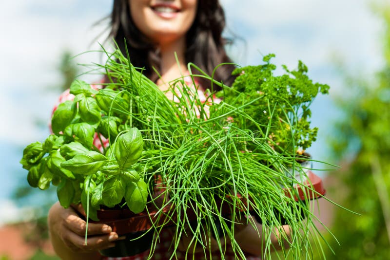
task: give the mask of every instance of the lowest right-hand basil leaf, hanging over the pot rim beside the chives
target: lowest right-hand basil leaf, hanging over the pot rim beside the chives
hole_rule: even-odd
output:
[[[125,200],[131,211],[136,214],[142,212],[145,209],[147,198],[148,185],[143,180],[127,184]]]

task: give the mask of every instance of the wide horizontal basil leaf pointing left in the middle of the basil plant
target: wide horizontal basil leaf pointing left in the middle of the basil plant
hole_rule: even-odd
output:
[[[61,167],[78,174],[92,175],[107,163],[106,160],[107,158],[99,152],[87,151],[75,155],[70,160],[64,161]]]

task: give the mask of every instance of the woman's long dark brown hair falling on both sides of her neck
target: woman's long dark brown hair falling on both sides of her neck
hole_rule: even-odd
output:
[[[224,48],[228,42],[222,37],[224,28],[225,13],[218,0],[198,0],[194,23],[186,35],[185,62],[195,63],[209,75],[220,63],[231,62]],[[129,0],[114,0],[109,37],[117,42],[124,54],[126,44],[132,64],[145,68],[145,75],[156,82],[158,76],[153,67],[159,71],[158,50],[136,27],[130,15]],[[234,79],[233,70],[233,65],[221,66],[216,70],[214,78],[231,85]],[[199,81],[205,88],[210,86],[207,80],[199,79]]]

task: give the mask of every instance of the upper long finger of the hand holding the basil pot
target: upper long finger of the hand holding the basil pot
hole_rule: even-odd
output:
[[[84,236],[87,223],[76,213],[69,214],[65,219],[65,225],[68,229],[79,236]],[[88,235],[102,235],[112,232],[112,228],[107,224],[88,223]]]

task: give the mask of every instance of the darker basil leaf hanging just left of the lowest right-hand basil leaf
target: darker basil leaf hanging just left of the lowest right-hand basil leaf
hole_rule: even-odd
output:
[[[114,207],[119,204],[125,194],[125,186],[120,175],[114,175],[103,183],[101,196],[103,203],[108,207]]]

